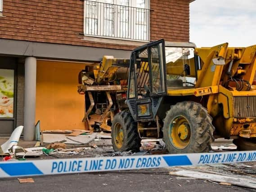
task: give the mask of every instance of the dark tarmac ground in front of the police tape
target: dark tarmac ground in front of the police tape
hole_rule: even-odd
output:
[[[249,188],[225,186],[197,179],[176,179],[167,169],[68,174],[33,177],[35,183],[17,178],[1,179],[4,192],[253,192]]]

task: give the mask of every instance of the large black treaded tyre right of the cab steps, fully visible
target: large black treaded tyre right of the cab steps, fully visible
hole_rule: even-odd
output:
[[[185,125],[189,127],[189,131],[186,132],[189,132],[189,134],[186,134],[186,136],[189,135],[189,139],[186,138],[186,141],[184,140],[184,146],[180,148],[177,147],[179,146],[179,142],[183,144],[183,140],[180,139],[180,133],[176,140],[171,136],[171,134],[173,134],[172,131],[177,129],[174,128],[174,120],[179,118],[183,118],[186,121],[176,126]],[[208,114],[207,109],[202,107],[199,103],[184,101],[171,106],[171,109],[166,113],[163,127],[163,141],[166,144],[166,149],[170,153],[198,153],[210,151],[211,143],[214,141],[213,132],[215,130],[211,121],[212,118]],[[178,144],[176,142],[175,145],[173,141],[179,142]]]

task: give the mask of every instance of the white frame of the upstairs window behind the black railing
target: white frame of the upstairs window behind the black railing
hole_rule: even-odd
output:
[[[103,2],[101,0],[90,0],[90,1],[94,1],[96,4],[98,4],[98,2]],[[113,26],[117,26],[117,27],[113,28],[114,30],[110,30],[107,32],[104,30],[105,18],[103,15],[103,9],[105,9],[105,8],[103,8],[101,6],[99,7],[99,5],[97,5],[98,13],[94,13],[94,16],[93,15],[90,16],[90,15],[86,14],[86,0],[84,2],[85,2],[84,3],[84,36],[103,37],[103,38],[121,39],[121,40],[133,40],[133,41],[149,41],[149,37],[150,37],[150,21],[149,21],[149,19],[150,19],[150,13],[149,13],[150,0],[145,0],[145,8],[141,9],[141,10],[146,9],[144,21],[135,21],[134,13],[132,13],[132,11],[134,12],[133,8],[136,7],[137,2],[136,2],[136,0],[129,0],[129,4],[127,5],[128,10],[124,10],[124,12],[126,12],[126,11],[128,12],[127,13],[128,20],[125,19],[127,21],[127,24],[123,25],[125,27],[127,26],[127,29],[125,29],[125,32],[121,27],[121,16],[120,16],[121,9],[115,10],[115,8],[113,8],[114,9],[113,14],[112,14],[113,15],[113,23],[114,23]],[[118,0],[112,0],[112,2],[113,2],[113,5],[116,5]],[[115,6],[113,6],[113,7],[115,7]],[[133,8],[130,8],[130,7],[133,7]],[[138,7],[138,9],[136,9],[136,13],[135,13],[136,15],[138,14],[137,13],[138,10],[139,10],[139,7]],[[147,13],[147,11],[148,11],[148,13]],[[86,20],[87,19],[89,19],[89,20],[91,19],[91,20],[94,20],[94,22],[97,22],[97,24],[94,24],[95,26],[97,26],[97,27],[94,27],[94,30],[93,30],[93,28],[91,28],[91,29],[87,29],[87,31],[86,31]],[[101,20],[101,21],[99,21],[99,20]],[[93,23],[89,22],[89,25],[92,25],[92,24]],[[139,25],[141,27],[140,29],[138,27],[136,27]],[[143,26],[145,26],[146,28],[144,28]],[[93,27],[93,26],[90,26],[90,27]],[[117,31],[117,29],[119,29],[119,31]],[[120,29],[122,29],[122,30],[120,31]],[[146,32],[143,33],[142,32],[143,30]],[[111,34],[110,34],[110,32],[111,32]],[[138,36],[138,34],[140,34],[140,36]]]

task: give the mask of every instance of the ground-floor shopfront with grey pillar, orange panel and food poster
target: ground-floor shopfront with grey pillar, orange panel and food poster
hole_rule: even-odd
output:
[[[103,55],[129,58],[130,51],[1,39],[0,135],[23,125],[24,139],[41,130],[85,129],[85,98],[77,93],[78,74]]]

